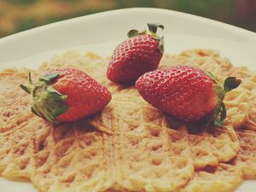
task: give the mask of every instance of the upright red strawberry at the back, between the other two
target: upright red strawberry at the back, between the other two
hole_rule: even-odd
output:
[[[128,39],[114,50],[108,65],[108,79],[116,83],[134,83],[143,73],[155,70],[164,51],[163,37],[155,32],[159,23],[148,24],[150,34],[131,30]]]

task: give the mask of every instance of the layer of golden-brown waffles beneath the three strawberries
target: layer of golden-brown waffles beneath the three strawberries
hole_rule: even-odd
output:
[[[165,55],[160,67],[184,64],[207,69],[220,81],[229,73],[241,71],[217,52],[202,49]],[[183,124],[153,108],[132,86],[108,81],[107,66],[108,58],[67,52],[31,72],[36,78],[49,68],[78,68],[108,86],[113,94],[102,113],[58,127],[30,112],[30,97],[17,87],[26,82],[27,69],[0,73],[0,89],[4,90],[1,98],[5,100],[0,102],[3,177],[27,177],[45,192],[189,192],[231,191],[242,177],[255,174],[246,173],[255,162],[252,148],[241,149],[242,141],[255,141],[254,131],[241,130],[243,126],[253,127],[253,93],[247,84],[225,97],[228,118],[224,127],[205,129]],[[102,129],[113,134],[99,131]]]

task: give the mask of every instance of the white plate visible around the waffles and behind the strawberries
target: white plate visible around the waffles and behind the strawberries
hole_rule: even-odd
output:
[[[165,26],[166,52],[183,49],[218,49],[234,65],[256,70],[256,34],[215,20],[166,9],[119,9],[41,26],[0,39],[0,69],[36,68],[66,49],[92,50],[110,55],[131,28],[144,29],[158,21]],[[36,192],[31,183],[0,177],[0,192]],[[253,191],[256,181],[246,181],[236,192]]]

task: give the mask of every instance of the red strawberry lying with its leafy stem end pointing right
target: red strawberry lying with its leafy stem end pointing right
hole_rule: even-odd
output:
[[[136,88],[144,100],[177,119],[195,122],[209,115],[211,122],[221,126],[226,117],[225,93],[240,83],[229,77],[222,86],[211,73],[180,66],[145,73],[137,79]]]

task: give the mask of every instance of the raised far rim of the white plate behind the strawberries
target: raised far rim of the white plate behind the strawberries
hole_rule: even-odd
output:
[[[108,20],[112,22],[108,23]],[[170,9],[129,8],[61,20],[0,38],[0,65],[56,49],[121,39],[131,27],[140,28],[148,20],[157,20],[168,26],[165,35],[218,38],[256,49],[256,33],[237,26]],[[101,27],[106,24],[108,27]],[[115,35],[113,28],[117,31]]]

